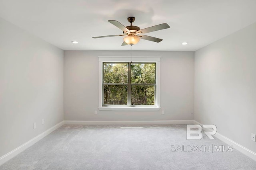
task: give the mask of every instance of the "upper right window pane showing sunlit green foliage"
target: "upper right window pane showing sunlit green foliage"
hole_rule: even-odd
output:
[[[156,63],[132,63],[131,83],[155,83]]]

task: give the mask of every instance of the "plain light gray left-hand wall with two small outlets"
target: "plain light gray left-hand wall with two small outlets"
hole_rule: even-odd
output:
[[[0,37],[1,157],[63,120],[63,51],[1,18]]]

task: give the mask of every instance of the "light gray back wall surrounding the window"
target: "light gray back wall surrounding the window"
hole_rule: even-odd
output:
[[[161,98],[165,111],[98,111],[98,56],[130,56],[130,51],[64,52],[64,120],[135,121],[193,119],[194,52],[133,51],[160,56]]]

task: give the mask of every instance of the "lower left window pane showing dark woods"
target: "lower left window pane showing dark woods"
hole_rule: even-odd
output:
[[[127,86],[104,85],[104,104],[127,105]]]

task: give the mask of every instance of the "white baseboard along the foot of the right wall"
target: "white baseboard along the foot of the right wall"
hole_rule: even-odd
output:
[[[202,123],[199,123],[198,121],[194,120],[194,124],[196,125],[202,125]],[[252,158],[253,160],[256,161],[256,153],[253,152],[250,149],[247,149],[246,147],[243,147],[242,145],[236,143],[235,141],[232,141],[231,139],[221,135],[220,133],[216,133],[214,135],[216,138],[220,139],[221,141],[223,141],[224,143],[228,144],[228,145],[232,145],[234,149],[239,150],[240,152],[242,152],[243,154],[245,154],[246,156]]]

